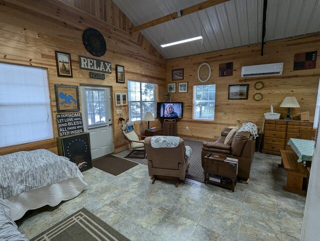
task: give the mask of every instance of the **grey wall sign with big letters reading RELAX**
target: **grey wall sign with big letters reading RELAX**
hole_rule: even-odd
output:
[[[94,70],[103,73],[111,73],[111,63],[84,56],[79,56],[79,65],[81,69]]]

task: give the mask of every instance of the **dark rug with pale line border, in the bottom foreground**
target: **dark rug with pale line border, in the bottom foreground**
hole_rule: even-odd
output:
[[[84,207],[30,239],[31,241],[130,240]]]

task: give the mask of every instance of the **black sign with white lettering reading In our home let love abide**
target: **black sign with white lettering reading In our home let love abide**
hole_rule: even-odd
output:
[[[81,112],[56,114],[59,136],[84,132]]]

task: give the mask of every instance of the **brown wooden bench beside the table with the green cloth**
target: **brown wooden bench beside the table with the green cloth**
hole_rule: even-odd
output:
[[[288,174],[283,190],[306,194],[308,171],[302,162],[297,162],[298,156],[292,150],[280,150],[281,165]]]

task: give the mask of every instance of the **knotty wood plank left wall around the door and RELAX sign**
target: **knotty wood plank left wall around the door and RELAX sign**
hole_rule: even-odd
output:
[[[66,3],[64,3],[66,2]],[[58,135],[54,84],[110,86],[112,93],[127,92],[127,80],[158,84],[165,90],[165,60],[140,33],[129,33],[131,22],[111,0],[1,0],[0,61],[47,68],[54,136]],[[82,32],[96,28],[106,41],[107,50],[101,57],[92,56],[82,44]],[[68,52],[72,60],[72,78],[57,77],[54,50]],[[104,80],[88,77],[88,70],[79,69],[78,55],[109,61],[112,73]],[[115,82],[115,64],[124,66],[125,83]],[[113,148],[128,148],[120,132],[121,121],[116,114],[112,94]],[[157,100],[162,96],[157,94]],[[80,103],[81,108],[81,103]],[[136,122],[136,132],[143,133],[146,121]],[[152,125],[160,126],[159,121]],[[55,140],[36,143],[57,152]],[[48,144],[49,143],[49,144]],[[0,148],[0,154],[30,149],[34,143]]]

